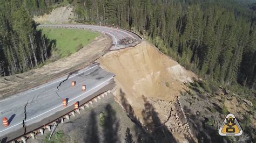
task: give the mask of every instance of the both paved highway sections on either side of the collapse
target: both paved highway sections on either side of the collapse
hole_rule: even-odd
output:
[[[137,34],[120,28],[92,25],[39,25],[39,27],[79,28],[105,33],[112,38],[113,45],[110,48],[112,50],[134,46],[142,41]],[[136,42],[120,45],[118,41],[125,37],[136,39]],[[4,127],[1,123],[0,141],[14,139],[24,132],[27,133],[62,117],[73,110],[75,102],[86,103],[98,94],[113,88],[113,77],[114,74],[94,64],[0,101],[0,118],[7,117],[10,124]],[[76,81],[75,87],[71,87],[71,81]],[[82,84],[86,84],[86,91],[82,91]],[[65,98],[68,99],[66,108],[62,105],[62,99]]]

